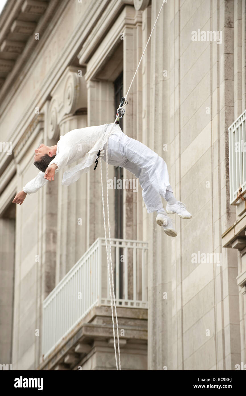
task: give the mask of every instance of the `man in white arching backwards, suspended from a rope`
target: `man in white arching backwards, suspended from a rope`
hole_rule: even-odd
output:
[[[36,148],[34,155],[34,165],[40,172],[18,192],[13,203],[21,205],[26,194],[33,194],[47,181],[53,181],[55,174],[72,162],[80,161],[64,172],[62,185],[68,186],[76,182],[82,173],[88,172],[90,166],[97,162],[99,155],[106,161],[106,144],[110,128],[112,124],[73,129],[61,136],[55,146],[41,144]],[[173,227],[174,220],[167,214],[177,213],[182,219],[191,219],[191,213],[173,195],[165,161],[143,143],[125,135],[118,122],[114,124],[108,138],[108,164],[125,168],[139,179],[147,211],[157,212],[156,222],[164,228],[167,235],[177,235]],[[163,208],[161,197],[167,201],[166,210]]]

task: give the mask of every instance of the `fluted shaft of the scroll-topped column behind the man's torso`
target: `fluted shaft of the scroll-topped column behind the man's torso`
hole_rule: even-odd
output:
[[[87,114],[66,116],[60,122],[61,135],[72,129],[85,128]],[[72,166],[75,166],[75,162]],[[76,183],[62,185],[63,172],[58,176],[56,284],[85,253],[87,218],[87,174]]]

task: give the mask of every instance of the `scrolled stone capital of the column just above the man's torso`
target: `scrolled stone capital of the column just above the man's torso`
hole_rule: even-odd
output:
[[[87,89],[83,75],[78,67],[69,66],[55,88],[51,91],[47,115],[47,136],[59,137],[59,124],[64,116],[74,114],[76,110],[87,108]]]

